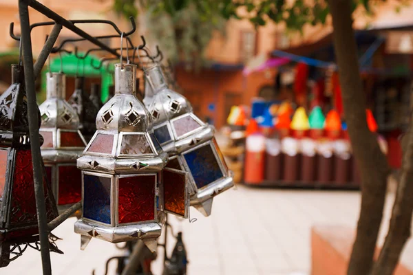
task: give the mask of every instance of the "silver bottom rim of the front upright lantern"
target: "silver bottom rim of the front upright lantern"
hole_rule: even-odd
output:
[[[141,223],[134,225],[119,225],[116,227],[94,224],[80,219],[74,223],[74,232],[91,238],[92,236],[111,243],[136,241],[136,239],[156,239],[160,236],[162,227],[159,223]],[[83,238],[85,239],[85,238]],[[86,243],[87,245],[87,243]],[[85,247],[83,247],[84,249]]]

